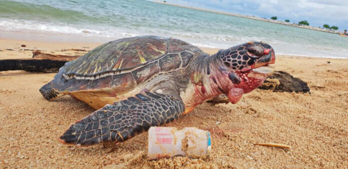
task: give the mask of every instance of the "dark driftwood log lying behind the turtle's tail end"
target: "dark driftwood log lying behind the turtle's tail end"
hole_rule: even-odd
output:
[[[25,70],[25,71],[58,71],[65,62],[78,58],[79,56],[55,55],[34,50],[31,58],[3,59],[0,60],[0,71]]]

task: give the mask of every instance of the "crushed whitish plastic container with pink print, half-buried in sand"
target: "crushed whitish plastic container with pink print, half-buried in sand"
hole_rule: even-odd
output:
[[[150,127],[148,130],[149,159],[173,156],[206,158],[211,150],[209,131],[195,127]]]

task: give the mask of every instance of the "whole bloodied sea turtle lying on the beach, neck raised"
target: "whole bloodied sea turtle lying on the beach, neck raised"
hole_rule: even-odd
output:
[[[208,55],[175,38],[137,36],[102,44],[66,62],[40,92],[65,94],[97,109],[60,137],[78,146],[123,142],[225,94],[236,103],[271,73],[273,48],[250,41]]]

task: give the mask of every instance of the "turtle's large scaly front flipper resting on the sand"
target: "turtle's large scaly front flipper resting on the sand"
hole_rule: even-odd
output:
[[[106,141],[123,142],[150,126],[177,119],[184,109],[177,95],[146,91],[94,111],[72,124],[59,140],[79,146]]]

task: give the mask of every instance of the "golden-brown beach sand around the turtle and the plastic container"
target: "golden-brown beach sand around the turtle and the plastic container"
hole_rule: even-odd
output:
[[[98,44],[1,38],[0,59],[31,57],[30,50],[20,50],[24,48],[74,54],[57,50],[91,49]],[[275,70],[303,79],[311,94],[255,89],[236,104],[203,103],[166,125],[208,129],[212,151],[207,159],[147,160],[146,132],[119,145],[63,145],[57,139],[59,134],[93,109],[69,96],[45,100],[38,89],[55,73],[2,71],[0,167],[347,167],[348,59],[276,57]],[[282,143],[292,148],[253,145],[257,142]]]

